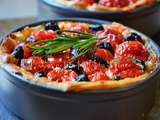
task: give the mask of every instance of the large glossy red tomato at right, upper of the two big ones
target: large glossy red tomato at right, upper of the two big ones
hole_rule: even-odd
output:
[[[115,58],[128,57],[146,61],[149,53],[145,46],[139,41],[126,41],[120,44],[115,51]]]

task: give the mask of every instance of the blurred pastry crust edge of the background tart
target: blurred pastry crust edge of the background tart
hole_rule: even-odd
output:
[[[137,7],[145,6],[148,4],[154,4],[156,3],[156,0],[138,0],[137,2],[130,4],[126,7],[118,8],[118,7],[107,7],[100,4],[87,4],[85,2],[76,2],[76,1],[68,1],[68,0],[58,0],[59,3],[72,6],[72,7],[78,7],[81,9],[86,9],[90,11],[131,11],[134,10]]]

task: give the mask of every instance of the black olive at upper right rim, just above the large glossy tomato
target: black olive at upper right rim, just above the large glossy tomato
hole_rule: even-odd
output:
[[[127,37],[125,38],[125,41],[139,41],[141,43],[144,43],[141,36],[138,35],[137,33],[130,33],[129,35],[127,35]]]

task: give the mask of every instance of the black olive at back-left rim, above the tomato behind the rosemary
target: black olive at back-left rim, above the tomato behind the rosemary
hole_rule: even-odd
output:
[[[59,30],[59,26],[58,26],[58,23],[57,22],[48,22],[45,24],[45,30],[53,30],[53,31],[56,31],[56,30]]]

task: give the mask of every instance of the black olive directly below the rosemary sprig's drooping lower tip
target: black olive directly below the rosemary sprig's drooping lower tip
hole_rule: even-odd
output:
[[[71,69],[71,70],[75,71],[78,75],[82,74],[82,72],[83,72],[83,67],[81,67],[80,65],[67,64],[65,66],[65,69]]]

